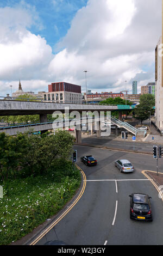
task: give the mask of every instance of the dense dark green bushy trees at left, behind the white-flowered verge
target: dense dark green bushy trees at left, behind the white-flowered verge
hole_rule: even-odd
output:
[[[0,133],[0,179],[8,184],[9,178],[36,176],[56,167],[58,161],[70,159],[74,137],[67,131],[55,135]]]

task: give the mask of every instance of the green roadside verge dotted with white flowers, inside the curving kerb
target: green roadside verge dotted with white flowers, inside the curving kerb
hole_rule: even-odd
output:
[[[80,172],[72,164],[67,164],[66,170],[9,180],[8,190],[3,187],[0,199],[0,245],[21,239],[57,214],[74,196],[80,182]]]

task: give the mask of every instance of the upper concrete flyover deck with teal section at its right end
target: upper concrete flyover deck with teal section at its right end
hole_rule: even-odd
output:
[[[45,115],[54,111],[65,112],[65,108],[72,111],[130,111],[132,106],[123,105],[92,105],[56,102],[37,102],[20,100],[0,100],[0,115]]]

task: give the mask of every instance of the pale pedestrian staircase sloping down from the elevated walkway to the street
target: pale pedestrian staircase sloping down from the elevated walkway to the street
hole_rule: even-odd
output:
[[[147,131],[145,130],[137,130],[134,126],[126,123],[126,122],[122,122],[119,119],[115,118],[115,117],[111,117],[111,123],[114,125],[117,125],[118,127],[124,128],[126,130],[128,130],[129,132],[133,133],[133,135],[143,135],[144,137],[146,136]]]

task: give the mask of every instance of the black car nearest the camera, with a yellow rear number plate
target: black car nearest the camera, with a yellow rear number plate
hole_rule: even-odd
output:
[[[147,194],[130,194],[130,218],[140,221],[153,221],[151,202]]]

